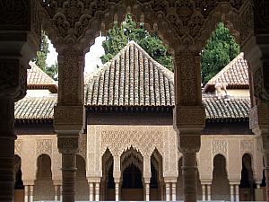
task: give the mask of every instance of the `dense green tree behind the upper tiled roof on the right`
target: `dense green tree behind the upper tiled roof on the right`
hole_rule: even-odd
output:
[[[207,83],[239,52],[239,45],[230,35],[229,29],[222,22],[219,23],[201,54],[202,82]]]

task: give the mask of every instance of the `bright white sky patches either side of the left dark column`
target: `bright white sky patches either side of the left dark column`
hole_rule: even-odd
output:
[[[104,48],[102,48],[102,41],[105,40],[105,37],[97,37],[95,39],[95,43],[91,46],[90,51],[85,56],[85,68],[84,72],[89,73],[96,70],[97,66],[101,66],[102,62],[100,57],[105,54]],[[50,40],[48,40],[48,56],[47,56],[47,64],[48,66],[54,65],[57,61],[57,53],[56,49],[51,44]]]

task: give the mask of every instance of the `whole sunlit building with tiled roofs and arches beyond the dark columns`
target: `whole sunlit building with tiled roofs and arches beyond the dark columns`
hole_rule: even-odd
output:
[[[15,201],[61,200],[62,158],[53,128],[57,86],[30,65],[28,95],[15,105]],[[85,78],[87,121],[78,141],[75,200],[182,200],[173,73],[131,42]],[[217,83],[227,83],[228,97],[215,95]],[[248,86],[240,54],[204,88],[199,200],[265,199],[261,139],[248,126]]]

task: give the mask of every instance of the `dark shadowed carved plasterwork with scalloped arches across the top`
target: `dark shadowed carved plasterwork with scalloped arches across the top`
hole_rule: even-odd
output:
[[[94,0],[43,1],[45,30],[55,43],[68,38],[77,47],[87,48],[98,31],[108,31],[114,21],[122,22],[132,13],[150,30],[160,31],[172,49],[203,48],[217,22],[223,20],[238,36],[239,10],[245,1],[156,1],[156,0]],[[170,38],[170,36],[174,36]],[[64,42],[65,43],[65,42]]]

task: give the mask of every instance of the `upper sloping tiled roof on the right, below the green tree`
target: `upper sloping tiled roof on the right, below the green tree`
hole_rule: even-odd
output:
[[[248,88],[248,66],[244,53],[240,53],[221,72],[209,80],[204,86],[204,92],[213,91],[216,83],[227,83],[228,88]]]

